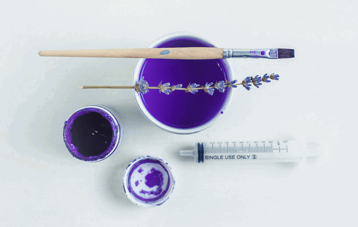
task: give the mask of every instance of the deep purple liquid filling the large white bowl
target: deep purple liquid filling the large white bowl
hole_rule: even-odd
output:
[[[194,37],[175,38],[159,44],[156,48],[176,47],[213,47]],[[158,86],[169,82],[170,85],[189,83],[205,86],[206,83],[220,80],[232,80],[229,66],[223,59],[213,60],[173,60],[145,59],[140,69],[149,86]],[[138,78],[138,81],[140,79]],[[201,126],[220,115],[222,106],[228,98],[225,93],[215,90],[213,96],[199,90],[195,95],[175,90],[169,95],[160,94],[159,90],[150,89],[142,96],[142,101],[148,112],[158,121],[174,128],[193,128]]]

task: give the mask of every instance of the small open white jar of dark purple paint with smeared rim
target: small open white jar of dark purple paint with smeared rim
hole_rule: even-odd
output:
[[[77,110],[63,127],[63,140],[70,153],[83,161],[101,161],[117,148],[120,125],[101,107]]]

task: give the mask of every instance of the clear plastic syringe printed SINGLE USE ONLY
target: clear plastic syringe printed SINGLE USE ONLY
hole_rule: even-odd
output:
[[[308,143],[307,143],[308,145]],[[306,146],[306,156],[319,154],[317,146]],[[182,156],[193,156],[197,163],[207,162],[300,162],[304,146],[298,141],[243,141],[197,143],[192,150],[181,150]]]

